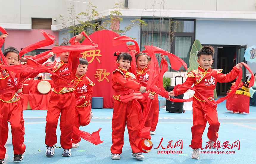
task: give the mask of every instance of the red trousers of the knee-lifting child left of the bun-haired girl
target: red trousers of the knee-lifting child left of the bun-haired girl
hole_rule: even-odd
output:
[[[75,126],[79,129],[79,126],[86,126],[91,121],[91,103],[86,107],[77,107],[75,112]],[[72,132],[72,143],[80,142],[81,138]]]

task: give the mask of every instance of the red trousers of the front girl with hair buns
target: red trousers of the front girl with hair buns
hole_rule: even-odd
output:
[[[141,152],[138,143],[141,138],[138,136],[140,131],[140,123],[138,118],[138,110],[133,99],[127,103],[119,100],[114,101],[114,110],[112,118],[112,146],[110,148],[112,154],[121,154],[124,145],[125,124],[128,129],[129,141],[132,153]]]

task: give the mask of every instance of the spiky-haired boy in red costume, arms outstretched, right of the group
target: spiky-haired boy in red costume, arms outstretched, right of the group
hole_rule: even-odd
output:
[[[230,73],[222,74],[222,69],[216,70],[211,69],[213,64],[213,54],[214,49],[212,46],[203,46],[199,50],[198,57],[198,69],[190,71],[188,73],[187,80],[182,84],[182,86],[191,87],[194,84],[195,89],[197,89],[203,96],[209,99],[211,102],[214,100],[214,88],[216,87],[216,82],[230,82],[234,80],[239,73],[239,68],[243,67],[241,63],[238,63]],[[188,89],[178,87],[176,93],[174,91],[169,92],[169,96],[180,95],[185,93]],[[205,130],[206,121],[209,123],[207,137],[209,138],[211,149],[216,148],[216,140],[218,138],[218,129],[220,123],[218,122],[218,115],[216,107],[211,106],[206,103],[202,97],[198,94],[194,94],[193,98],[193,126],[192,131],[192,141],[191,148],[193,149],[192,159],[199,159],[199,148],[202,147],[202,135]],[[205,117],[206,116],[206,117]]]

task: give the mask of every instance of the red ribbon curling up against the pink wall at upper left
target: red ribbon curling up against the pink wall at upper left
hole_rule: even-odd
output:
[[[44,32],[43,30],[41,31],[45,40],[41,40],[39,42],[36,42],[34,44],[31,44],[27,47],[25,47],[24,49],[22,49],[19,53],[20,57],[24,54],[26,54],[27,52],[30,52],[30,51],[33,51],[35,49],[38,49],[38,48],[41,48],[41,47],[45,47],[45,46],[49,46],[51,44],[54,43],[54,40],[55,40],[55,36],[53,35],[50,35],[46,32]]]

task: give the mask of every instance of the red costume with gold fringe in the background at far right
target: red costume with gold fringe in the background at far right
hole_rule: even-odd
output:
[[[230,91],[234,88],[235,82],[232,83]],[[233,112],[245,112],[249,113],[250,106],[250,92],[249,88],[243,86],[241,81],[239,84],[238,90],[235,91],[235,94],[226,100],[227,110],[232,110]]]

